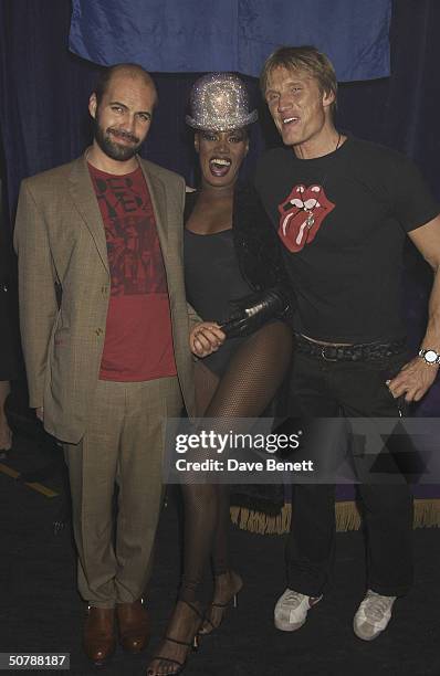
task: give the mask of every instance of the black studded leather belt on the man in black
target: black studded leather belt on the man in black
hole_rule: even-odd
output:
[[[296,351],[324,361],[378,361],[406,350],[405,339],[392,342],[364,342],[358,345],[319,345],[295,335]]]

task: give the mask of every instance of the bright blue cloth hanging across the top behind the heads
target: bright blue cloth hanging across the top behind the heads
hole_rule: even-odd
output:
[[[70,45],[102,65],[259,76],[281,44],[314,44],[341,82],[389,75],[391,0],[73,0]]]

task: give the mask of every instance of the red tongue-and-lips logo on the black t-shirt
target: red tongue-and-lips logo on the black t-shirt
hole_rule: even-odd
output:
[[[313,242],[324,219],[333,211],[321,186],[295,186],[287,199],[279,205],[279,236],[292,253]]]

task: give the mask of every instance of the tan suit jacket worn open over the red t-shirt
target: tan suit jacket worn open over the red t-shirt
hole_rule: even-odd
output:
[[[185,181],[138,159],[151,196],[165,262],[178,378],[192,415],[192,360],[182,270]],[[105,231],[84,156],[23,180],[14,245],[30,405],[44,405],[48,432],[61,441],[77,443],[87,425],[98,380],[111,292]]]

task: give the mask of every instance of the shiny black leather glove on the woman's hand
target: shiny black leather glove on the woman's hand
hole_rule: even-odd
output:
[[[281,319],[289,309],[285,296],[276,288],[237,300],[240,309],[220,328],[227,338],[250,336],[268,321]]]

